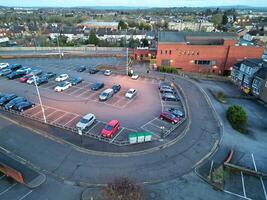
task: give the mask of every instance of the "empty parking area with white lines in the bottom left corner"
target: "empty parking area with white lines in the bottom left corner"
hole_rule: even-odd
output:
[[[3,200],[26,200],[29,199],[33,190],[21,185],[0,172],[0,199]]]

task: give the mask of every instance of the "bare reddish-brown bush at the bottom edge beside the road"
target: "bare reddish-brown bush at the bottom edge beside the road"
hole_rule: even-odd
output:
[[[127,178],[117,179],[102,189],[105,200],[143,200],[142,188]]]

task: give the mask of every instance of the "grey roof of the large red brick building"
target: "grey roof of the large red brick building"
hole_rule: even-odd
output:
[[[159,32],[158,41],[162,43],[190,43],[191,40],[236,40],[236,33],[225,32]]]

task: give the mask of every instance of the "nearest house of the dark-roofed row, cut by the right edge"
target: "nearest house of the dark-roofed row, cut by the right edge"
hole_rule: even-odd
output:
[[[267,103],[267,63],[254,74],[252,93]]]

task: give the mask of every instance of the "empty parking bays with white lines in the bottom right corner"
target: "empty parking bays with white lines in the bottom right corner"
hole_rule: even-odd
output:
[[[236,155],[237,154],[237,155]],[[243,166],[256,172],[267,173],[267,157],[254,154],[235,153],[232,164]],[[256,177],[244,171],[225,170],[224,191],[241,199],[266,200],[267,179]]]

